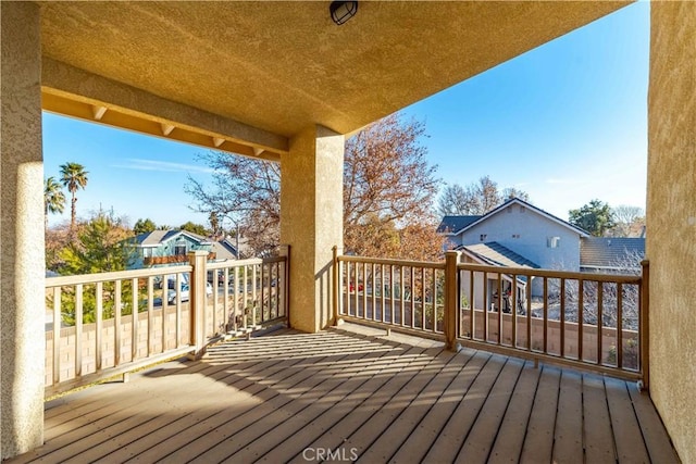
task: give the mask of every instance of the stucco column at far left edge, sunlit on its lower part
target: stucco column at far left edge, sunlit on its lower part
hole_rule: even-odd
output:
[[[46,363],[41,43],[35,3],[0,2],[2,459],[44,440]]]

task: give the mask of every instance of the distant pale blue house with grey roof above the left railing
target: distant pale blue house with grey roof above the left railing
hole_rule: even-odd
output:
[[[153,230],[139,234],[134,241],[137,259],[133,268],[188,262],[188,252],[208,251],[209,261],[235,260],[234,244],[223,239],[214,241],[186,230]]]

